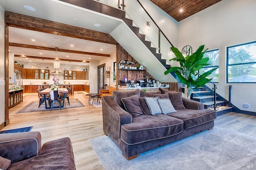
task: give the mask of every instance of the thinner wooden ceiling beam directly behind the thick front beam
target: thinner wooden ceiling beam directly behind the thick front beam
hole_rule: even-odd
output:
[[[21,43],[9,43],[9,46],[56,51],[56,48],[42,47],[42,46],[38,46],[38,45],[27,45],[27,44],[21,44]],[[84,55],[96,55],[96,56],[101,56],[101,57],[110,57],[109,54],[91,53],[91,52],[85,52],[85,51],[74,51],[74,50],[69,50],[69,49],[58,48],[58,51],[66,52],[66,53],[76,53],[76,54],[84,54]]]

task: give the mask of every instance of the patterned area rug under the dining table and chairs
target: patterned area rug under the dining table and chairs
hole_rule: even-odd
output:
[[[46,103],[47,103],[47,106],[49,107],[48,102],[46,102]],[[62,107],[61,109],[84,107],[84,105],[78,99],[69,99],[69,103],[70,103],[70,105],[68,105],[68,101],[65,99],[64,107]],[[20,111],[18,111],[17,113],[50,111],[50,109],[45,109],[44,103],[39,108],[38,108],[38,104],[39,104],[39,99],[38,99],[38,101],[32,101],[31,103],[26,105],[24,108],[20,109]],[[56,106],[56,104],[58,104],[58,103],[55,102],[54,105]],[[56,109],[59,110],[60,108],[53,108],[52,110],[56,110]]]

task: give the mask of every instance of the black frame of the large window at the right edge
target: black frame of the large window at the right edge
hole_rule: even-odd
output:
[[[247,63],[229,64],[228,49],[229,49],[229,48],[232,48],[232,47],[238,47],[238,46],[242,46],[242,45],[251,44],[251,43],[256,43],[256,41],[246,42],[246,43],[240,43],[240,44],[231,45],[231,46],[226,47],[226,60],[227,60],[227,61],[226,61],[226,83],[256,83],[256,82],[229,82],[229,81],[228,81],[228,67],[229,67],[229,66],[246,65],[246,64],[256,64],[256,61],[254,61],[254,62],[247,62]]]

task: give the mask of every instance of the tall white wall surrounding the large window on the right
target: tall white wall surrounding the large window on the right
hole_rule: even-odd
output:
[[[178,23],[178,48],[191,45],[193,52],[203,44],[208,49],[219,48],[217,93],[228,99],[228,86],[232,85],[231,102],[252,112],[256,112],[256,84],[226,83],[226,47],[256,40],[255,7],[255,0],[222,0]],[[242,103],[251,108],[242,108]]]

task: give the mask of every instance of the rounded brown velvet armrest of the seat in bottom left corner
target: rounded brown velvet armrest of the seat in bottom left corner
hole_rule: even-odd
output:
[[[0,134],[0,156],[11,160],[11,163],[36,156],[40,149],[40,132]]]

